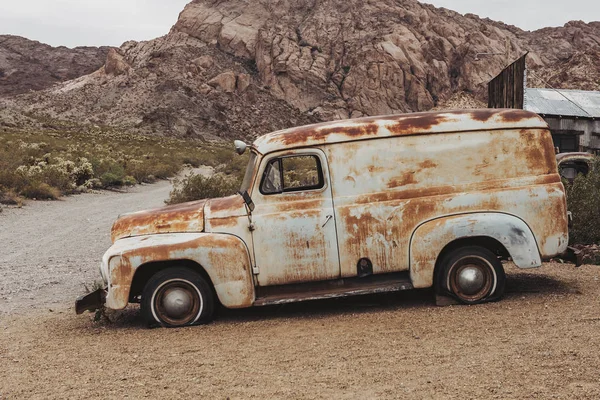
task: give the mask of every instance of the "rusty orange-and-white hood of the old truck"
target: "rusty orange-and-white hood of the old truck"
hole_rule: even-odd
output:
[[[131,236],[202,232],[206,202],[207,200],[197,200],[120,215],[113,224],[111,240],[114,243],[115,240]]]

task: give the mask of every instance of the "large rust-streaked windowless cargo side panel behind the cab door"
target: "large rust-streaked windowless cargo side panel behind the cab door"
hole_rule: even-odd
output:
[[[342,276],[409,268],[410,236],[445,215],[504,212],[532,229],[542,257],[567,242],[564,188],[546,129],[404,136],[324,146]]]

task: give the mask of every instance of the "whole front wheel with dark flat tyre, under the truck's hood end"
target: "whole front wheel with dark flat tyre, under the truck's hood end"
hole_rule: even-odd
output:
[[[141,311],[149,326],[203,324],[212,320],[214,295],[200,274],[188,268],[167,268],[146,283]]]

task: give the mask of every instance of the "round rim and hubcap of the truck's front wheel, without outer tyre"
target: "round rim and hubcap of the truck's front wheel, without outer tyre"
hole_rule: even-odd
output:
[[[157,321],[167,325],[194,323],[202,313],[202,296],[192,283],[171,279],[155,290],[152,312]]]

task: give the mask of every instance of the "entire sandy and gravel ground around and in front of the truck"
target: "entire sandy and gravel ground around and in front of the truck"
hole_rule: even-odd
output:
[[[506,265],[505,298],[478,306],[436,307],[424,290],[221,310],[185,329],[146,329],[135,307],[75,315],[114,218],[169,190],[0,213],[0,399],[600,398],[595,266]]]

